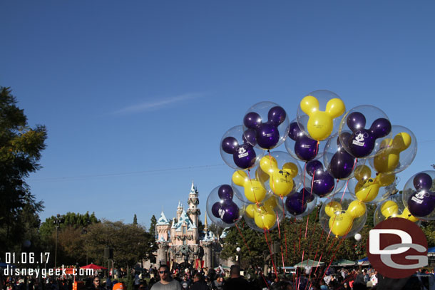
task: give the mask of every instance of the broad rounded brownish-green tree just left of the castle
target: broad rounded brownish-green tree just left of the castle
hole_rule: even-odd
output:
[[[154,237],[140,225],[103,221],[91,224],[85,238],[88,257],[103,264],[104,248],[113,248],[116,266],[134,266],[152,255]]]

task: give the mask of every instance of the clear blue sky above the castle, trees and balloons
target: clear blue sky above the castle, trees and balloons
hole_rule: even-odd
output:
[[[187,207],[201,219],[233,170],[222,135],[255,103],[296,117],[331,90],[373,105],[418,140],[399,174],[431,170],[434,1],[1,1],[0,86],[46,125],[43,168],[26,181],[40,217],[95,212],[149,226]],[[277,150],[284,150],[282,145]]]

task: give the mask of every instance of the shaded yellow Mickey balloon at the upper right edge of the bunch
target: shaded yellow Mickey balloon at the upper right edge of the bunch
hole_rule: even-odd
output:
[[[400,152],[411,145],[412,138],[408,133],[401,132],[394,139],[385,139],[381,143],[379,153],[374,157],[374,169],[377,172],[392,172],[399,165]]]

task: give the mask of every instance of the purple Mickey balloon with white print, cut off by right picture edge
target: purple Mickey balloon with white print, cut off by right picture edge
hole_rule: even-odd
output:
[[[421,172],[414,177],[415,191],[407,200],[409,212],[415,217],[426,217],[435,209],[435,192],[431,191],[433,180],[431,175]]]

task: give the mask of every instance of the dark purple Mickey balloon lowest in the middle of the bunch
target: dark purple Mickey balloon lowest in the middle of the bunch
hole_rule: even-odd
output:
[[[312,182],[307,178],[305,187],[285,198],[285,214],[287,217],[305,217],[310,214],[317,204],[317,195],[307,185]]]

